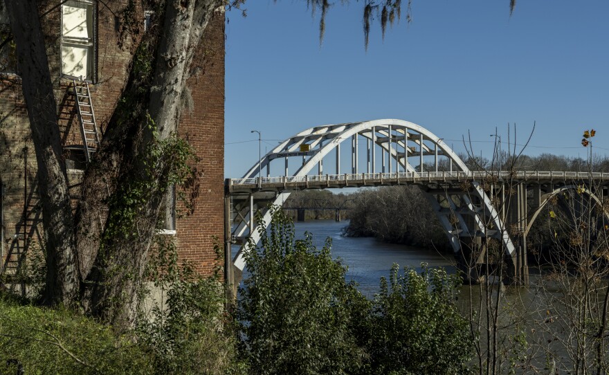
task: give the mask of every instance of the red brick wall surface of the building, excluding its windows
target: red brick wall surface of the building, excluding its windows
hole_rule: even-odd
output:
[[[107,122],[127,78],[127,68],[133,53],[133,43],[126,39],[118,46],[120,15],[126,0],[109,0],[98,5],[98,80],[91,85],[93,108],[100,128]],[[45,10],[42,10],[44,12]],[[73,98],[69,95],[71,80],[61,77],[60,8],[45,16],[51,78],[55,86],[59,125],[65,145],[82,144]],[[143,19],[143,17],[141,17]],[[129,38],[129,37],[128,37]],[[210,273],[215,265],[213,237],[221,244],[224,235],[224,12],[217,12],[201,42],[194,62],[199,73],[188,82],[194,107],[184,109],[179,134],[187,137],[196,149],[202,172],[199,196],[194,213],[177,222],[177,240],[181,257],[190,259],[199,271]],[[35,156],[19,77],[0,80],[0,179],[3,184],[3,259],[17,246],[15,233],[23,232],[24,206],[24,147],[28,147],[28,199],[35,201]],[[35,217],[36,212],[30,215]],[[39,214],[38,214],[39,217]],[[31,226],[31,225],[30,225]],[[36,240],[39,232],[27,228]],[[1,272],[1,271],[0,271]]]

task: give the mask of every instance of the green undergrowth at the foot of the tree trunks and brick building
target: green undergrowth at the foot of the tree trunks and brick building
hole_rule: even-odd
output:
[[[218,269],[217,271],[221,271]],[[33,307],[0,298],[0,374],[244,374],[219,278],[203,278],[179,264],[174,243],[159,237],[148,280],[149,298],[137,329],[112,327],[73,311]]]

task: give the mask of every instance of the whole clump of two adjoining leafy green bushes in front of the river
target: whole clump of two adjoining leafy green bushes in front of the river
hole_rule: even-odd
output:
[[[262,218],[258,218],[259,222]],[[269,235],[246,254],[240,289],[244,355],[255,374],[455,374],[472,340],[455,304],[457,276],[394,266],[390,286],[369,301],[345,282],[346,268],[311,235],[273,213]]]

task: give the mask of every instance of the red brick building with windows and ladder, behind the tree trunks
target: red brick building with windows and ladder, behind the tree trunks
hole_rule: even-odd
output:
[[[73,0],[40,10],[51,79],[57,99],[59,125],[69,176],[82,174],[87,152],[81,121],[84,107],[75,102],[74,79],[89,82],[97,133],[102,136],[127,79],[134,43],[119,44],[120,17],[127,0]],[[57,6],[57,4],[60,4]],[[143,25],[151,19],[140,10]],[[0,1],[0,43],[9,29]],[[0,51],[0,270],[8,273],[24,262],[41,243],[42,212],[37,204],[36,161],[28,114],[21,93],[14,47]],[[181,257],[202,273],[210,273],[217,255],[214,238],[224,237],[224,10],[210,22],[193,64],[199,74],[190,78],[192,105],[183,111],[178,132],[199,156],[202,172],[194,213],[167,222]],[[94,145],[92,146],[94,147]]]

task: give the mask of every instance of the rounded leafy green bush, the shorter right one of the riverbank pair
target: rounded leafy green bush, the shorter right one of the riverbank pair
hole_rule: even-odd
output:
[[[456,305],[459,277],[394,264],[381,279],[370,321],[370,374],[458,374],[471,358],[469,327]]]

